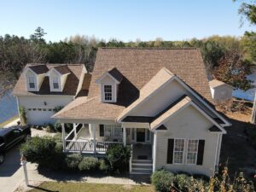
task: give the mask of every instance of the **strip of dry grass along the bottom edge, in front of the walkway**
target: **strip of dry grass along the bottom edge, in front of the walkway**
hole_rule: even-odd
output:
[[[44,182],[30,192],[38,191],[83,191],[83,192],[154,192],[152,185],[122,185],[100,183]]]

